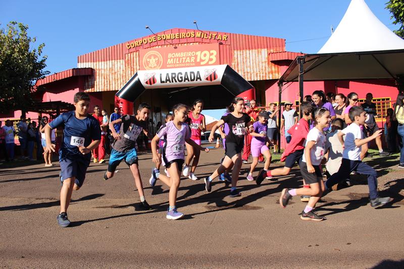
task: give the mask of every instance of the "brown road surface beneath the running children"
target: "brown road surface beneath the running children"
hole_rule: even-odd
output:
[[[196,176],[208,176],[223,149],[201,153]],[[280,167],[279,155],[271,168]],[[107,164],[91,163],[83,187],[73,193],[71,227],[60,228],[60,167],[38,162],[0,165],[0,266],[3,268],[404,268],[404,180],[398,154],[366,159],[379,174],[381,196],[393,202],[369,205],[366,178],[352,175],[353,186],[333,191],[316,207],[323,222],[302,221],[299,197],[286,208],[283,188],[301,186],[298,167],[261,186],[240,173],[242,196],[230,198],[229,186],[183,178],[178,192],[185,218],[166,219],[168,187],[148,184],[151,154],[140,154],[146,200],[141,211],[128,167],[102,179]],[[263,167],[260,164],[254,174]]]

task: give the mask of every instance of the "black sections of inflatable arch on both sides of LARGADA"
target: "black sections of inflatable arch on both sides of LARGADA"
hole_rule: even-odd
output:
[[[217,87],[214,86],[197,86],[197,87]],[[248,81],[234,71],[230,66],[226,66],[220,86],[229,91],[233,96],[254,88]],[[179,86],[180,88],[181,86]],[[194,88],[194,87],[188,87]],[[139,97],[146,88],[143,87],[139,80],[137,72],[131,77],[128,82],[115,94],[119,98],[133,102]]]

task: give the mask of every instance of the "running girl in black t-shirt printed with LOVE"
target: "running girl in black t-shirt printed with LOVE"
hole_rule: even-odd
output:
[[[205,178],[205,189],[208,192],[212,191],[212,180],[222,174],[226,169],[228,169],[232,164],[233,171],[231,173],[231,189],[230,197],[237,197],[241,194],[237,191],[237,181],[241,168],[241,150],[244,146],[244,135],[246,134],[247,128],[252,131],[251,118],[243,113],[244,109],[244,99],[241,97],[235,97],[227,110],[230,112],[228,115],[223,116],[218,123],[213,126],[211,135],[209,136],[209,141],[212,142],[214,139],[214,133],[223,124],[227,123],[229,125],[229,134],[226,136],[226,155],[222,164],[218,169],[213,172],[212,175]]]

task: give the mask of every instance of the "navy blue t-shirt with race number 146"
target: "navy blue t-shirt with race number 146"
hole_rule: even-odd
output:
[[[87,118],[83,120],[79,120],[76,118],[74,111],[66,112],[49,123],[49,126],[51,126],[52,129],[64,126],[63,143],[59,151],[61,157],[83,156],[79,151],[79,145],[86,147],[92,140],[101,139],[99,123],[91,115],[88,115]],[[91,153],[87,153],[84,156],[91,158]]]

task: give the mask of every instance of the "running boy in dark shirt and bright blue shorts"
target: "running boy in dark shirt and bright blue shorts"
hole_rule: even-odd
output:
[[[140,178],[138,158],[135,149],[136,139],[139,134],[143,133],[151,139],[148,134],[148,115],[150,114],[150,105],[140,103],[137,109],[137,115],[124,115],[122,118],[110,122],[109,127],[115,141],[112,144],[110,162],[108,171],[104,174],[104,180],[108,180],[114,176],[117,166],[125,160],[129,166],[135,179],[135,185],[140,196],[139,207],[144,210],[151,209],[150,205],[144,199],[143,185]],[[120,124],[119,134],[114,129],[114,125]]]

